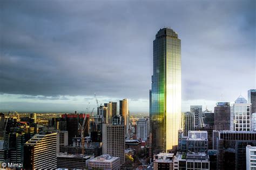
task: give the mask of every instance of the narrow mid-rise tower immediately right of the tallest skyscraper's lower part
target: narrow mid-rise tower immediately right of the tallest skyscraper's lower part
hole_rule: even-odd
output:
[[[184,136],[187,137],[188,131],[194,131],[194,113],[184,113],[183,119]]]

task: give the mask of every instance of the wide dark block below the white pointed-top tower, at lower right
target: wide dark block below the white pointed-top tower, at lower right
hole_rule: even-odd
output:
[[[256,132],[213,131],[218,169],[246,169],[246,146],[256,146]]]

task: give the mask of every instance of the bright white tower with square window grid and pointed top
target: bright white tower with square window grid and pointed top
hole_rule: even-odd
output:
[[[251,131],[251,104],[242,96],[239,96],[231,107],[231,115],[234,118],[234,131]]]

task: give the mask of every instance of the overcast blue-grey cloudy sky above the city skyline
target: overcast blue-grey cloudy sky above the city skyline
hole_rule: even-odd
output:
[[[256,1],[0,1],[0,111],[149,112],[153,40],[181,39],[182,111],[255,89]]]

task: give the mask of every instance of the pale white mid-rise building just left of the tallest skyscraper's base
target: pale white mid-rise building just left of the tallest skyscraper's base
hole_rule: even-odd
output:
[[[139,119],[136,124],[137,140],[146,141],[149,136],[149,118]]]

